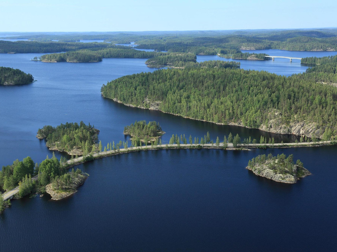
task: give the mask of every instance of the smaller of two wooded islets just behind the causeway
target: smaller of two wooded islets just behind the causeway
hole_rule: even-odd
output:
[[[124,127],[125,135],[131,135],[131,142],[133,146],[140,146],[142,143],[151,143],[158,141],[158,138],[165,132],[162,131],[159,123],[153,121],[146,123],[143,121],[135,121]]]

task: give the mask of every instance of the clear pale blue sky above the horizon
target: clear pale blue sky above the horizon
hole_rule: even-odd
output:
[[[0,0],[0,31],[337,27],[336,0]]]

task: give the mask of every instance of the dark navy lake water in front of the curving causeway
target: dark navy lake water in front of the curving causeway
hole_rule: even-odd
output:
[[[6,251],[333,251],[336,151],[160,150],[95,160],[79,166],[90,177],[66,200],[13,200],[0,217],[0,245]],[[293,153],[312,175],[288,185],[245,169],[249,159],[269,152]]]

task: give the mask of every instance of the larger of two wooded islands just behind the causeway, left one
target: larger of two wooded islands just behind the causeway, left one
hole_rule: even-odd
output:
[[[86,155],[95,150],[99,130],[94,126],[78,123],[66,123],[57,127],[45,125],[38,129],[36,137],[46,138],[50,150],[65,151],[69,155]]]

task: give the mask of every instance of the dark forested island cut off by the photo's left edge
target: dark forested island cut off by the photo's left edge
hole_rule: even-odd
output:
[[[0,85],[28,84],[34,81],[30,73],[25,73],[19,69],[0,66]]]

